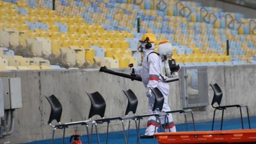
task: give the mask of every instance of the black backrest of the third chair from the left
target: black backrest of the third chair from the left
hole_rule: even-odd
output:
[[[127,115],[129,112],[132,112],[133,114],[135,114],[138,106],[138,99],[136,95],[131,89],[123,90],[123,92],[128,98],[128,105],[125,111],[125,115]]]

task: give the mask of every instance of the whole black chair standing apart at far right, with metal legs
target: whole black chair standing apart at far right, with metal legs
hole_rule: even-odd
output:
[[[250,126],[250,118],[249,118],[249,112],[248,112],[248,106],[246,104],[235,104],[235,105],[229,105],[229,106],[220,106],[220,102],[222,99],[222,90],[220,89],[220,87],[218,86],[218,84],[210,84],[210,86],[212,87],[213,91],[214,91],[214,96],[212,99],[212,107],[215,108],[214,113],[213,113],[213,120],[212,120],[212,130],[214,127],[214,118],[215,118],[215,112],[216,110],[222,110],[222,117],[221,117],[221,125],[220,125],[220,130],[222,130],[222,124],[223,124],[223,115],[224,115],[224,110],[226,110],[226,108],[232,108],[232,107],[236,107],[240,109],[240,115],[241,115],[241,123],[242,123],[242,129],[244,129],[244,124],[243,124],[243,116],[242,116],[242,107],[245,107],[247,110],[247,117],[248,117],[248,124],[249,124],[249,129],[251,128]],[[217,103],[219,106],[213,106],[215,103]]]

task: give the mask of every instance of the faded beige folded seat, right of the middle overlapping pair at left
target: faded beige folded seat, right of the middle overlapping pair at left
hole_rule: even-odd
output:
[[[49,58],[52,54],[52,43],[48,38],[36,37],[36,41],[42,42],[42,58]]]

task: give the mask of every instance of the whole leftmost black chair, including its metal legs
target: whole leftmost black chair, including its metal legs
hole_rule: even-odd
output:
[[[60,101],[54,95],[51,95],[48,97],[46,96],[46,99],[48,100],[48,102],[51,105],[51,113],[50,113],[50,118],[48,120],[48,124],[52,128],[54,128],[53,132],[52,132],[52,144],[53,144],[53,140],[54,140],[54,132],[56,129],[63,129],[62,144],[64,144],[65,130],[66,130],[66,128],[68,128],[68,126],[80,125],[80,124],[86,125],[86,131],[87,131],[87,134],[89,134],[87,125],[91,123],[90,120],[79,121],[79,122],[69,122],[69,123],[61,124],[60,118],[61,118],[61,114],[62,114],[62,105],[61,105]],[[53,120],[56,120],[58,122],[58,125],[52,125],[51,122]]]

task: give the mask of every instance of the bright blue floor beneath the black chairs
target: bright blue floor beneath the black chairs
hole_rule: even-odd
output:
[[[248,120],[246,117],[243,118],[244,121],[244,128],[247,129],[248,126]],[[251,123],[251,128],[256,128],[256,116],[250,117],[250,123]],[[190,131],[193,130],[193,124],[189,123],[188,128]],[[212,128],[212,121],[209,122],[198,122],[196,123],[196,130],[197,131],[209,131]],[[176,125],[177,131],[186,131],[185,124],[177,124]],[[220,129],[220,120],[217,120],[214,123],[214,130],[219,130]],[[235,118],[235,119],[229,119],[229,120],[224,120],[223,122],[223,130],[231,130],[231,129],[242,129],[241,126],[241,119],[240,118]],[[140,134],[144,134],[145,128],[140,129]],[[129,136],[129,144],[136,144],[136,130],[130,130],[130,136]],[[70,137],[65,138],[65,144],[70,144],[69,142]],[[84,143],[87,144],[87,136],[84,135],[80,137],[80,140]],[[106,143],[105,141],[105,134],[100,134],[100,143],[104,144]],[[40,140],[40,141],[35,141],[35,142],[29,142],[26,144],[50,144],[51,140]],[[62,143],[62,138],[56,138],[54,139],[54,144],[61,144]],[[110,132],[108,135],[108,144],[123,144],[124,143],[124,138],[123,138],[123,133],[122,131],[119,132]],[[153,139],[142,139],[141,140],[142,144],[156,144],[157,141]],[[92,144],[98,144],[96,135],[94,134],[92,136]]]

